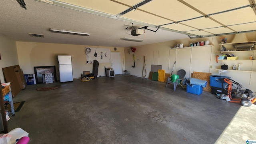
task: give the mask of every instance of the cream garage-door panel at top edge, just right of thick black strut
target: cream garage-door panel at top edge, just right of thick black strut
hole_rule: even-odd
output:
[[[174,21],[202,16],[177,0],[153,0],[139,8]]]

